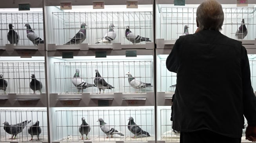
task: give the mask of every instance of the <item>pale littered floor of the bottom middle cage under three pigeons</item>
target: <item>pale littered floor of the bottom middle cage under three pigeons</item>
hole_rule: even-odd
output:
[[[133,138],[133,136],[125,136],[125,137],[113,136],[113,138],[107,138],[107,136],[105,136],[105,138],[104,138],[104,136],[88,136],[88,139],[85,139],[85,136],[84,136],[84,140],[82,140],[82,136],[67,136],[59,141],[60,142],[84,142],[84,141],[114,142],[114,141],[149,141],[149,140],[154,140],[154,137],[153,136],[150,136],[150,137],[138,136],[137,138]]]

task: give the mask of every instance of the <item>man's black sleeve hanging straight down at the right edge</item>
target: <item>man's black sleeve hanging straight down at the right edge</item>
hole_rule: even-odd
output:
[[[242,46],[241,73],[243,84],[243,114],[248,125],[256,126],[256,96],[251,85],[249,59],[245,47]]]

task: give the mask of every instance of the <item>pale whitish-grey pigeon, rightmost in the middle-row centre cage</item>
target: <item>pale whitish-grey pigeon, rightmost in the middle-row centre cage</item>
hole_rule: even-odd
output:
[[[128,75],[128,82],[129,82],[130,86],[135,89],[152,87],[150,83],[141,82],[141,81],[135,79],[129,71],[125,75]]]

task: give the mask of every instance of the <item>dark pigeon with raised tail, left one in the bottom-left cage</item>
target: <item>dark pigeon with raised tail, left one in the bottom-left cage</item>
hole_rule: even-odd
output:
[[[25,126],[30,123],[30,121],[24,121],[24,122],[21,122],[21,123],[17,123],[17,124],[13,124],[13,125],[9,125],[8,122],[4,122],[4,130],[5,132],[7,132],[8,134],[11,134],[13,136],[15,136],[13,138],[13,136],[9,139],[15,139],[17,134],[22,132],[22,130],[25,128]]]

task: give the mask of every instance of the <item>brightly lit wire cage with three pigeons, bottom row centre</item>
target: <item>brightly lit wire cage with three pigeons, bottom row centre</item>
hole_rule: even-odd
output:
[[[90,131],[87,139],[79,132],[82,125],[82,118],[88,123]],[[128,119],[133,117],[134,122],[145,132],[145,134],[135,135],[128,130]],[[114,128],[116,133],[113,135],[105,134],[99,123],[99,118],[107,124],[103,125],[103,129],[110,130]],[[86,130],[86,129],[84,129]],[[56,110],[56,141],[61,142],[78,142],[78,141],[93,141],[93,142],[113,142],[113,141],[148,141],[154,140],[154,110],[151,107],[143,107],[140,109],[83,109],[83,110]],[[118,131],[118,132],[117,132]],[[107,131],[106,131],[107,132]]]

